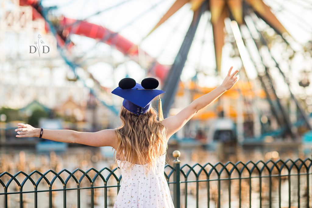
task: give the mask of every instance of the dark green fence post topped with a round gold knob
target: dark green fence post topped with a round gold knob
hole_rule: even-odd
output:
[[[180,208],[180,160],[179,157],[181,152],[178,150],[173,151],[172,153],[175,160],[173,161],[173,167],[175,171],[173,172],[173,204],[175,208]],[[186,205],[185,205],[186,207]]]

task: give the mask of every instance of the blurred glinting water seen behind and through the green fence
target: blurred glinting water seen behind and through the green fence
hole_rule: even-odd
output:
[[[283,160],[288,158],[305,158],[310,157],[310,155],[304,155],[300,148],[291,147],[291,148],[225,148],[225,147],[217,147],[215,151],[207,151],[203,148],[188,148],[188,147],[177,147],[170,145],[167,151],[166,161],[169,165],[173,165],[174,158],[172,157],[173,150],[178,149],[181,152],[180,161],[181,167],[188,163],[190,166],[193,166],[195,163],[199,163],[204,165],[207,162],[211,164],[216,164],[221,161],[226,163],[227,161],[237,162],[247,162],[248,160],[252,160],[254,162],[258,160],[267,161],[272,159],[276,161],[281,158]],[[272,151],[273,150],[273,151]],[[11,149],[11,148],[2,148],[0,152],[0,172],[10,172],[12,174],[23,171],[26,173],[30,173],[33,170],[38,170],[42,173],[46,172],[49,169],[55,170],[56,172],[61,171],[63,168],[68,169],[69,171],[75,170],[77,167],[86,171],[91,167],[94,167],[97,170],[100,170],[104,167],[108,167],[110,169],[115,168],[115,163],[111,157],[105,157],[100,151],[100,148],[92,148],[92,147],[77,147],[77,148],[69,148],[68,151],[63,153],[54,153],[50,154],[36,152],[34,149]],[[287,163],[289,165],[290,163]],[[249,169],[252,168],[252,164],[248,165]],[[229,166],[230,169],[233,167]],[[216,169],[220,171],[222,166],[218,166]],[[241,169],[242,165],[238,166],[238,169]],[[200,169],[199,166],[195,167],[194,170],[198,172]],[[207,172],[211,170],[210,166],[205,168]],[[182,170],[187,173],[189,171],[188,167],[183,167]],[[166,168],[165,172],[168,174],[170,172],[170,168]],[[249,203],[251,203],[251,207],[260,207],[260,180],[258,178],[257,171],[254,171],[256,174],[253,174],[251,180],[249,178],[241,180],[241,206],[249,207]],[[311,172],[311,171],[310,171]],[[120,175],[119,170],[116,172],[117,175]],[[90,172],[91,176],[94,176],[95,172]],[[106,177],[109,174],[108,171],[103,172],[103,176]],[[276,169],[274,174],[278,174]],[[282,174],[287,175],[288,172],[283,171]],[[297,174],[296,171],[292,171],[291,174]],[[82,174],[76,173],[75,176],[79,178]],[[238,177],[238,172],[234,171],[231,175],[231,178]],[[249,176],[247,170],[242,172],[243,176]],[[267,172],[264,172],[263,175],[267,175]],[[69,175],[67,173],[62,173],[61,177],[66,179]],[[54,177],[52,173],[47,175],[47,178],[51,181]],[[180,176],[181,181],[184,181],[183,175]],[[222,173],[221,178],[227,178],[227,174]],[[19,175],[18,180],[23,181],[25,177],[23,175]],[[39,175],[35,174],[32,177],[35,181],[39,178]],[[213,172],[210,175],[210,180],[216,179],[217,174]],[[1,178],[3,181],[7,182],[4,177]],[[113,179],[113,178],[111,178]],[[192,181],[195,180],[196,176],[193,172],[190,172],[187,180]],[[198,180],[207,180],[207,177],[204,172],[202,172]],[[71,178],[69,180],[69,185],[67,188],[75,188],[76,182]],[[173,176],[171,176],[170,181],[173,181]],[[251,202],[250,202],[250,181],[251,181]],[[290,187],[291,190],[291,205],[292,207],[297,207],[298,204],[298,177],[291,176],[290,177],[290,186],[288,183],[288,177],[281,177],[280,182],[280,190],[281,190],[281,207],[288,207],[288,190]],[[307,207],[307,197],[306,197],[306,176],[300,176],[300,206]],[[310,202],[311,199],[311,175],[310,175]],[[277,177],[272,177],[272,207],[278,207],[279,204],[279,180]],[[82,181],[82,187],[89,186],[88,180],[85,178]],[[114,180],[109,180],[108,185],[117,185]],[[103,182],[97,180],[95,182],[95,186],[104,186]],[[170,190],[173,196],[173,185],[170,184]],[[217,207],[218,204],[218,181],[210,181],[209,182],[209,205],[210,207]],[[207,182],[198,182],[199,188],[199,207],[207,207],[208,197],[207,197]],[[18,191],[18,187],[14,185],[14,181],[9,186],[9,191]],[[44,183],[44,181],[40,182],[38,190],[48,189],[48,186]],[[52,186],[52,189],[62,189],[62,184],[60,181],[55,182]],[[25,186],[23,187],[23,191],[32,191],[34,190],[30,181],[27,181]],[[239,204],[239,180],[234,179],[231,180],[231,207],[238,207]],[[261,180],[261,198],[262,198],[262,207],[269,207],[269,178],[262,178]],[[117,188],[108,188],[108,207],[112,207],[115,201]],[[1,189],[0,193],[3,193],[3,189]],[[66,191],[66,204],[67,207],[77,207],[77,191]],[[229,180],[220,181],[220,202],[221,207],[229,207]],[[25,207],[33,207],[34,206],[34,194],[28,193],[23,194],[23,198],[28,203],[25,203]],[[55,207],[63,207],[63,192],[57,191],[52,194],[52,201]],[[3,202],[4,196],[0,196],[0,207],[4,204]],[[19,195],[14,194],[9,196],[9,207],[18,207]],[[38,206],[39,207],[48,207],[48,193],[42,192],[38,193]],[[81,190],[80,191],[80,202],[81,207],[89,207],[90,206],[90,191],[89,190]],[[95,190],[95,207],[103,207],[104,206],[104,189],[96,189]],[[187,206],[188,207],[196,207],[196,182],[190,182],[187,184]],[[185,183],[181,183],[181,207],[185,207]]]

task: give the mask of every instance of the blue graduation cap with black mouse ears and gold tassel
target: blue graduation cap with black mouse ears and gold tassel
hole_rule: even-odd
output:
[[[124,78],[119,81],[119,87],[112,93],[124,98],[122,105],[125,109],[136,115],[146,113],[151,107],[151,101],[165,91],[155,89],[159,85],[155,78],[145,78],[141,84],[136,83],[132,78]],[[158,99],[158,118],[163,120],[161,99]]]

